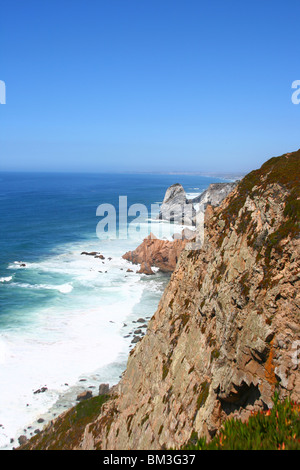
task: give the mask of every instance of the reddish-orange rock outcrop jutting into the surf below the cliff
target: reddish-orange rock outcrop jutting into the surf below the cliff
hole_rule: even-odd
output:
[[[138,272],[144,274],[153,274],[151,266],[163,272],[172,272],[185,244],[186,240],[160,240],[151,233],[136,250],[128,251],[123,258],[133,264],[141,264]]]

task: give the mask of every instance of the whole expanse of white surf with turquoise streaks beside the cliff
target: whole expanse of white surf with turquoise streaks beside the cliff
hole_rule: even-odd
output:
[[[53,305],[39,304],[22,330],[11,328],[0,334],[1,380],[9,384],[0,391],[0,448],[17,445],[10,444],[10,439],[24,434],[39,417],[52,419],[47,413],[59,401],[65,406],[74,404],[83,374],[86,387],[117,382],[131,347],[125,336],[132,321],[144,316],[149,304],[150,315],[154,313],[164,286],[162,281],[126,273],[132,265],[122,255],[135,247],[135,240],[66,244],[40,262],[26,262],[22,281],[9,283],[9,288],[33,293],[55,289],[67,295],[56,296]],[[105,259],[82,255],[84,251],[101,252]],[[19,262],[10,266],[18,269]],[[54,276],[58,283],[39,283],[39,276]],[[143,304],[144,292],[147,305]],[[34,394],[41,387],[47,390]],[[70,398],[62,398],[68,393]]]

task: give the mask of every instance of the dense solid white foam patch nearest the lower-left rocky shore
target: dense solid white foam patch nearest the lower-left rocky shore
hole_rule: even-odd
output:
[[[65,383],[76,386],[81,374],[95,374],[118,359],[125,348],[120,329],[141,290],[129,288],[127,293],[126,300],[115,297],[115,302],[102,306],[87,299],[86,307],[77,310],[74,304],[67,312],[41,309],[21,336],[18,332],[1,336],[1,378],[9,387],[1,391],[0,447],[47,413],[64,393]],[[100,376],[98,384],[101,381]],[[34,394],[41,387],[47,391]]]

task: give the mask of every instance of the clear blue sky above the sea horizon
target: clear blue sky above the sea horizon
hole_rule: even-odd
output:
[[[300,147],[299,0],[2,0],[0,171],[241,172]]]

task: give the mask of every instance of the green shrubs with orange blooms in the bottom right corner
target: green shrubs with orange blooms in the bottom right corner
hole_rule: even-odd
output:
[[[247,422],[228,419],[207,443],[191,438],[185,450],[300,450],[300,405],[273,398],[272,409],[255,413]]]

